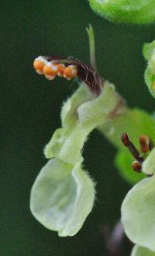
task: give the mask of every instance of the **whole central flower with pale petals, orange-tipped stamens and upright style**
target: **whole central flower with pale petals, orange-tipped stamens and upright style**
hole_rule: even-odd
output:
[[[91,63],[95,64],[94,35],[88,29]],[[91,212],[95,200],[95,183],[81,167],[81,151],[90,132],[105,124],[120,97],[115,87],[74,58],[36,58],[34,68],[47,79],[56,75],[66,79],[77,77],[80,86],[64,103],[62,127],[58,128],[44,149],[49,162],[40,171],[30,196],[33,216],[61,237],[73,236]],[[110,100],[109,100],[110,99]]]

